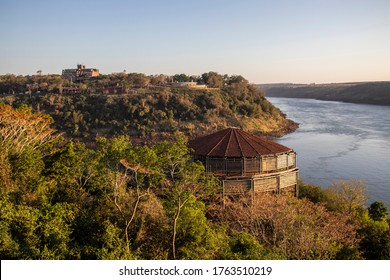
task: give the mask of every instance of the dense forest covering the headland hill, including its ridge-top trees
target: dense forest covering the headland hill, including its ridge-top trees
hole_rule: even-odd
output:
[[[68,137],[86,141],[125,134],[134,139],[168,139],[175,131],[192,137],[229,126],[280,135],[297,127],[241,76],[210,72],[193,77],[209,87],[205,89],[179,88],[167,82],[189,79],[184,74],[168,78],[120,73],[77,84],[85,89],[79,93],[56,94],[69,81],[57,76],[8,75],[0,79],[0,92],[5,93],[0,101],[14,107],[28,104],[34,111],[51,115],[55,127]],[[127,93],[103,94],[110,87]]]

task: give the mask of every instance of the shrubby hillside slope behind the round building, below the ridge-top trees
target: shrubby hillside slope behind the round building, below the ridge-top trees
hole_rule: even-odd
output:
[[[231,126],[282,135],[297,127],[247,83],[202,90],[145,87],[127,94],[11,94],[0,102],[49,114],[56,129],[85,142],[122,134],[154,141],[175,131],[194,137]]]

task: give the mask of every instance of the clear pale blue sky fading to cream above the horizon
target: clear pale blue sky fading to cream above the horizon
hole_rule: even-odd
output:
[[[0,74],[390,80],[390,0],[0,0]]]

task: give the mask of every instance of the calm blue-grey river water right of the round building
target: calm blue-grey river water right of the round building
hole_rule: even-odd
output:
[[[300,178],[329,186],[361,179],[368,203],[390,206],[390,106],[268,98],[299,129],[277,141],[297,152]]]

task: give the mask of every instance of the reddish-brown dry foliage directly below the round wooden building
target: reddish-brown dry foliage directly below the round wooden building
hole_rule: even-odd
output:
[[[217,218],[230,229],[251,233],[287,259],[334,259],[340,249],[358,242],[352,215],[294,197],[261,194],[225,202]]]

